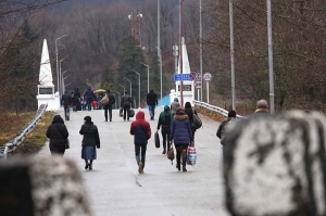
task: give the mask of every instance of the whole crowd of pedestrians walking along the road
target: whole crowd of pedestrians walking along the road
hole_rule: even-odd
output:
[[[85,94],[88,110],[91,110],[91,100],[93,100],[95,92],[89,87]],[[75,89],[73,96],[67,91],[62,96],[62,105],[65,111],[65,119],[70,120],[70,105],[74,104],[74,111],[78,110],[78,102],[80,102],[80,93],[78,88]],[[104,109],[105,122],[112,122],[112,106],[115,103],[115,98],[110,90],[100,98],[99,103]],[[83,106],[83,100],[82,100]],[[155,106],[158,105],[158,97],[153,90],[147,96],[147,104],[149,107],[150,119],[153,120],[155,116]],[[129,120],[130,111],[133,110],[133,100],[127,91],[121,98],[121,115],[124,120]],[[108,115],[109,113],[109,115]],[[197,115],[196,110],[191,107],[190,102],[186,102],[183,107],[175,98],[168,105],[164,106],[164,111],[160,113],[158,118],[156,131],[161,129],[163,138],[162,154],[166,154],[173,145],[176,150],[176,168],[178,170],[187,171],[187,150],[189,147],[195,147],[193,115]],[[268,112],[268,104],[265,100],[260,100],[256,103],[256,110],[253,115],[271,115]],[[83,135],[82,158],[85,160],[85,169],[92,169],[92,162],[97,158],[97,149],[100,148],[100,136],[97,126],[91,122],[90,116],[84,118],[85,124],[82,126],[79,134]],[[216,136],[221,140],[223,147],[223,155],[226,154],[225,139],[227,138],[227,128],[230,124],[237,120],[237,113],[229,111],[227,117],[221,123],[217,128]],[[138,165],[139,174],[143,174],[146,164],[146,151],[148,140],[151,138],[150,124],[145,119],[145,113],[139,111],[136,115],[136,120],[130,124],[130,135],[134,136],[135,156]],[[63,156],[66,148],[68,131],[60,115],[54,115],[52,124],[49,126],[47,137],[50,139],[51,154],[60,154]]]

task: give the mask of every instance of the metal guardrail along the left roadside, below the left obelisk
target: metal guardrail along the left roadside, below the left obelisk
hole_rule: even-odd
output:
[[[26,135],[33,131],[38,122],[42,118],[48,104],[41,104],[35,114],[35,117],[26,124],[26,126],[20,130],[15,138],[7,142],[3,147],[0,147],[0,158],[7,158],[9,152],[15,151],[15,149],[24,141]]]

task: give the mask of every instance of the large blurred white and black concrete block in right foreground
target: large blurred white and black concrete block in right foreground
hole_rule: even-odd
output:
[[[326,215],[326,118],[288,112],[228,128],[224,176],[235,216]]]

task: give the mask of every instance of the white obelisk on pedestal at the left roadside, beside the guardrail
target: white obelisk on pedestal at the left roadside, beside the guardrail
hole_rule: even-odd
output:
[[[54,93],[54,85],[52,78],[52,71],[50,64],[50,56],[48,50],[47,39],[43,40],[42,55],[39,69],[39,85],[38,96],[38,107],[41,104],[48,104],[48,111],[54,111],[60,109],[60,97],[58,91]]]

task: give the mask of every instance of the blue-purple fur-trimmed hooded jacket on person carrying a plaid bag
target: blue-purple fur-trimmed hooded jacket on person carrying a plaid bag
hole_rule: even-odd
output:
[[[185,111],[178,111],[172,123],[170,140],[174,140],[174,144],[189,144],[193,141],[192,131],[188,115]]]

